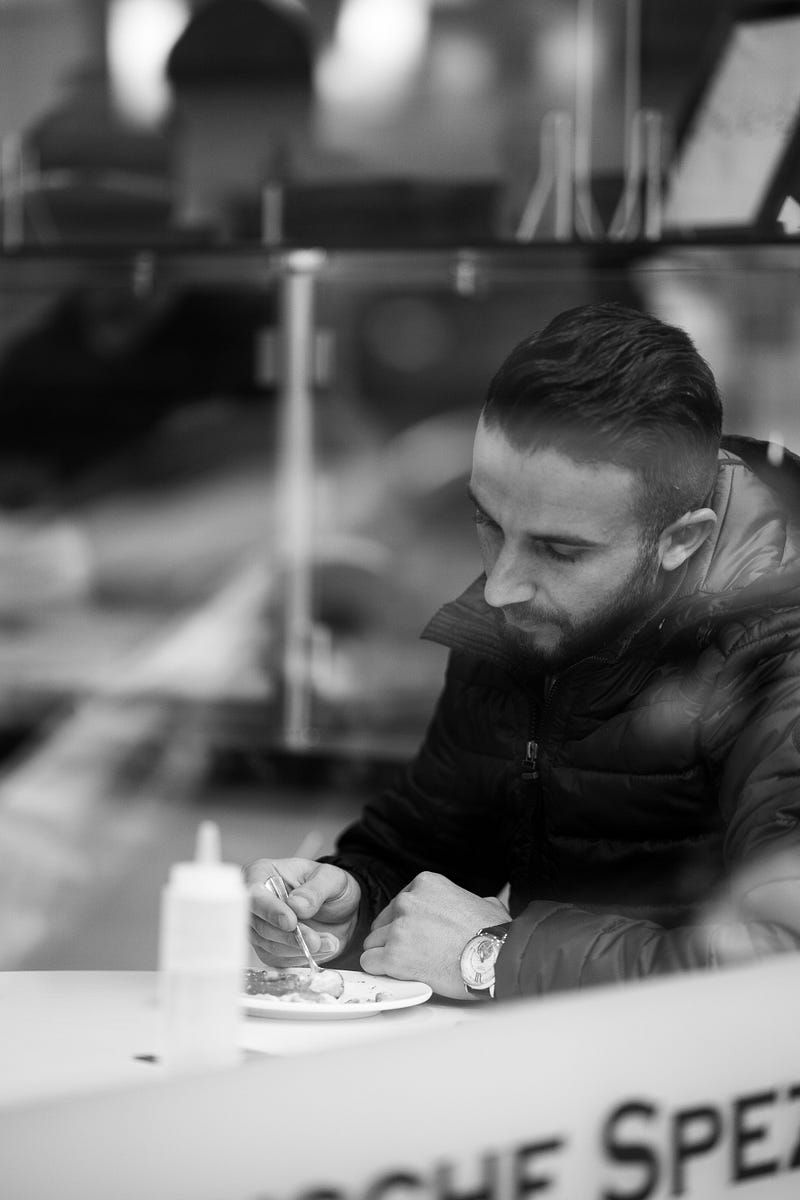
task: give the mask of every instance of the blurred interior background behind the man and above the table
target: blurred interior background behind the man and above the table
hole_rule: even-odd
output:
[[[772,7],[0,0],[0,967],[152,967],[199,820],[314,856],[414,751],[558,311],[684,325],[796,449]]]

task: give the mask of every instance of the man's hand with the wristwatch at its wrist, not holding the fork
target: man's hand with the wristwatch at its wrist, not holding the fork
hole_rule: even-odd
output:
[[[465,1000],[461,952],[485,925],[509,920],[495,896],[476,896],[423,871],[386,905],[363,943],[361,966],[371,974],[419,979],[439,996]]]

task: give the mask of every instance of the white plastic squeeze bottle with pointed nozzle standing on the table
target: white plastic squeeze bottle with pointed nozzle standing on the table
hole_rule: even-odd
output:
[[[173,864],[161,898],[162,1061],[168,1070],[239,1061],[247,917],[241,871],[221,860],[219,827],[203,821],[194,862]]]

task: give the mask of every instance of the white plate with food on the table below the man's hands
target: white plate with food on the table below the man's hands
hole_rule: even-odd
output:
[[[375,1013],[387,1013],[393,1008],[423,1004],[433,995],[427,983],[371,976],[363,971],[341,971],[339,974],[344,980],[344,995],[330,1003],[314,1000],[282,1000],[279,996],[242,995],[242,1007],[248,1016],[341,1021],[353,1016],[373,1016]],[[375,1000],[375,996],[380,996],[380,1000]]]

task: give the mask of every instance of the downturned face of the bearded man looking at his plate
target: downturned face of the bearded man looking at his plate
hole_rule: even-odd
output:
[[[535,670],[591,654],[656,602],[658,552],[643,538],[633,472],[551,448],[522,452],[481,421],[470,496],[486,601]]]

